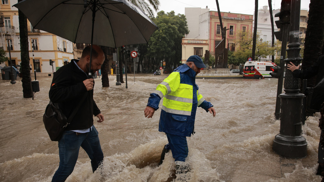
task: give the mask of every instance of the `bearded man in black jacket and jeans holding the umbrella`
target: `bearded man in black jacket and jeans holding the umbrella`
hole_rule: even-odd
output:
[[[98,131],[93,125],[93,115],[98,117],[98,123],[104,121],[104,116],[93,100],[94,80],[88,79],[87,73],[99,70],[105,56],[99,46],[92,45],[90,61],[90,50],[91,46],[84,48],[80,60],[72,59],[71,63],[57,70],[49,91],[50,100],[53,103],[59,103],[67,118],[79,102],[82,102],[71,123],[67,125],[62,138],[58,141],[60,165],[52,178],[55,182],[65,181],[73,172],[80,146],[91,159],[93,172],[103,161]]]

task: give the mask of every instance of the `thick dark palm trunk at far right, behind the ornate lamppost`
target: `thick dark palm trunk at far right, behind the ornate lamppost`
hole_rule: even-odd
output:
[[[324,40],[324,2],[310,0],[302,69],[307,69],[322,53]],[[322,71],[322,70],[321,70]],[[316,78],[307,79],[307,87],[315,86]]]

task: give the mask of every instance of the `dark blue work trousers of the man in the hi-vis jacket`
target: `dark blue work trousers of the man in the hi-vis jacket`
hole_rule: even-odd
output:
[[[185,136],[168,134],[168,144],[166,149],[171,150],[174,161],[185,161],[188,156],[188,144]]]

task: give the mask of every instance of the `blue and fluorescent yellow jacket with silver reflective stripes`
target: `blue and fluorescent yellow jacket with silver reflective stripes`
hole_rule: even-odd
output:
[[[196,72],[186,64],[176,68],[150,94],[147,106],[158,109],[163,99],[159,131],[179,136],[191,136],[194,129],[196,109],[202,107],[208,112],[213,107],[198,92],[195,83]]]

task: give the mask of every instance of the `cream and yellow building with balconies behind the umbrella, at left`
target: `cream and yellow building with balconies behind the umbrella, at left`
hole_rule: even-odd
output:
[[[0,12],[3,13],[4,27],[0,27],[0,47],[3,47],[6,51],[6,57],[9,58],[8,40],[5,35],[10,34],[9,48],[11,61],[13,65],[20,65],[18,9],[12,7],[12,5],[16,3],[17,0],[1,1]],[[31,73],[36,70],[36,76],[52,76],[53,71],[67,64],[74,58],[73,43],[71,41],[42,30],[34,29],[28,20],[27,26]],[[53,66],[50,65],[50,60],[54,61]],[[10,65],[9,62],[5,62],[0,66],[4,67]]]

